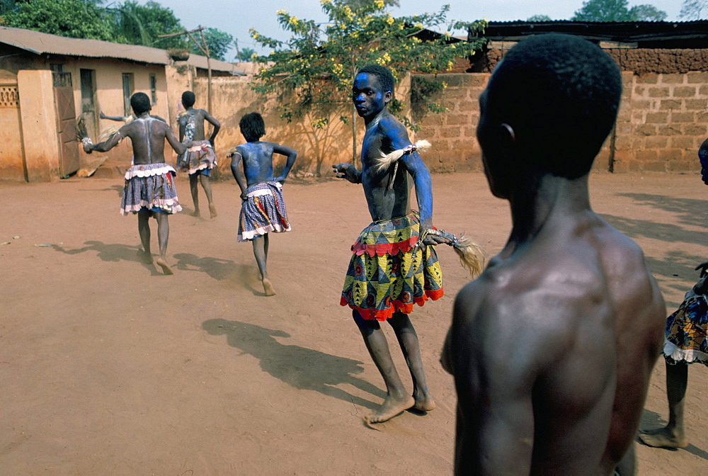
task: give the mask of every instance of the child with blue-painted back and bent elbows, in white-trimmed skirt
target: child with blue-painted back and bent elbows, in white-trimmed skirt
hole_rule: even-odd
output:
[[[273,284],[268,279],[268,233],[289,232],[285,202],[282,200],[282,184],[295,164],[297,152],[273,142],[261,142],[265,135],[265,123],[258,113],[244,115],[239,122],[246,144],[229,151],[231,171],[241,188],[241,215],[239,217],[239,242],[253,243],[258,271],[261,271],[263,290],[266,296],[275,295]],[[287,157],[285,167],[273,178],[273,154]],[[241,173],[239,164],[243,162]],[[245,181],[244,181],[245,176]]]

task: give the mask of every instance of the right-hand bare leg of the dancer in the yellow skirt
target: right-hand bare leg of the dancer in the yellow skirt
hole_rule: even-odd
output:
[[[396,332],[396,338],[401,346],[401,351],[406,358],[411,378],[413,379],[413,398],[416,399],[416,409],[429,412],[435,408],[435,400],[428,392],[426,382],[426,372],[423,370],[423,359],[421,358],[421,345],[418,341],[418,334],[413,328],[408,314],[395,312],[389,319],[389,324]]]

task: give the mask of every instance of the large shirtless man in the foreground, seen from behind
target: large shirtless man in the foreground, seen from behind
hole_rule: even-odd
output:
[[[639,246],[590,208],[588,173],[621,91],[599,47],[538,35],[509,50],[479,98],[484,171],[513,225],[457,295],[442,354],[458,475],[634,472],[666,314]]]

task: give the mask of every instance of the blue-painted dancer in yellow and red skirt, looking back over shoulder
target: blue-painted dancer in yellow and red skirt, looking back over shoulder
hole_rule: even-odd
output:
[[[399,166],[377,167],[382,152],[411,146],[406,128],[387,109],[393,87],[393,77],[384,67],[360,69],[352,99],[366,125],[362,169],[358,171],[352,164],[333,166],[341,179],[362,184],[372,219],[352,246],[341,297],[341,305],[352,309],[386,385],[387,397],[375,414],[366,417],[369,423],[387,421],[413,407],[423,412],[435,408],[418,335],[408,314],[414,304],[423,305],[428,297],[436,300],[442,296],[438,258],[433,246],[423,244],[449,242],[435,235],[425,237],[425,231],[433,228],[433,189],[428,167],[418,153],[404,154]],[[416,186],[420,212],[411,210],[410,179]],[[396,333],[413,379],[412,395],[401,382],[379,321],[387,321]]]

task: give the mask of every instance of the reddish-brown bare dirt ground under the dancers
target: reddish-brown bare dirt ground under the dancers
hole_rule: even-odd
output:
[[[446,295],[413,313],[438,408],[367,428],[383,382],[339,295],[370,220],[360,186],[307,180],[284,188],[293,231],[271,237],[275,297],[263,295],[251,245],[236,242],[233,181],[213,184],[214,220],[188,215],[178,181],[174,276],[136,256],[121,179],[0,183],[0,474],[451,474],[455,389],[438,355],[467,277],[441,246]],[[595,210],[642,246],[675,310],[708,259],[707,188],[663,174],[593,174],[590,188]],[[435,175],[433,189],[435,225],[501,249],[508,205],[483,175]],[[662,359],[644,427],[667,418],[663,378]],[[708,369],[690,367],[689,379],[692,445],[638,445],[640,475],[708,475]]]

